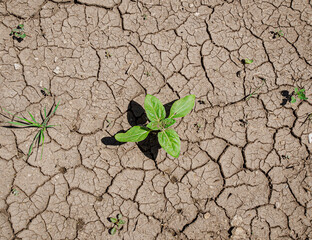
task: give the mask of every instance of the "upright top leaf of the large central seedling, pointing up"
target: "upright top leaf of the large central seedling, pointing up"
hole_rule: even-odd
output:
[[[160,121],[166,117],[166,110],[158,98],[147,94],[144,101],[147,118],[151,122]]]

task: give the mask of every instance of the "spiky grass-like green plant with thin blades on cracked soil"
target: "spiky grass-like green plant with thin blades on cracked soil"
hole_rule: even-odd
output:
[[[27,154],[27,159],[29,158],[30,154],[32,153],[32,149],[34,147],[34,144],[37,143],[37,147],[39,148],[40,145],[42,145],[42,150],[41,150],[41,159],[42,159],[42,155],[43,155],[43,146],[44,146],[44,133],[45,131],[48,129],[48,128],[51,128],[51,127],[55,127],[56,125],[48,125],[48,122],[51,118],[51,116],[55,113],[56,109],[58,108],[59,106],[59,103],[56,104],[55,108],[53,111],[50,111],[48,114],[47,114],[47,109],[44,108],[44,117],[42,116],[41,114],[41,117],[42,117],[42,122],[39,123],[36,121],[36,119],[34,118],[34,116],[28,112],[30,118],[32,120],[29,120],[27,118],[24,118],[24,117],[18,117],[16,116],[18,119],[18,121],[10,121],[8,123],[10,124],[13,124],[13,125],[16,125],[16,126],[19,126],[19,127],[34,127],[34,128],[38,128],[38,132],[37,134],[35,135],[35,137],[33,138],[33,141],[28,149],[28,154]],[[6,109],[3,109],[5,110],[7,113],[9,113],[10,115],[14,116],[12,113],[10,113],[9,111],[7,111]],[[51,108],[52,110],[52,108]]]

